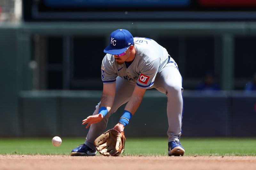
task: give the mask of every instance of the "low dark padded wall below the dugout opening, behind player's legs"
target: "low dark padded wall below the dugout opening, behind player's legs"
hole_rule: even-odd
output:
[[[85,136],[82,120],[92,115],[98,91],[22,92],[21,136]],[[125,133],[130,137],[164,137],[168,129],[167,98],[148,90]],[[184,91],[183,136],[255,137],[256,94]],[[110,116],[107,129],[118,122],[124,107]],[[5,134],[7,135],[7,134]],[[4,136],[5,136],[4,135]]]

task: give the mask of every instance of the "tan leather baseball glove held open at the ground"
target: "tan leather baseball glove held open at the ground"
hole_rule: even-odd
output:
[[[94,141],[94,146],[104,156],[118,156],[124,152],[124,131],[109,129]]]

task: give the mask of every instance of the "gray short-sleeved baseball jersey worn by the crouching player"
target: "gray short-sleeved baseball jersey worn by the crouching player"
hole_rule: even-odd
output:
[[[175,61],[168,55],[167,50],[156,41],[149,38],[134,37],[136,56],[132,64],[126,68],[125,63],[118,65],[114,55],[107,54],[102,60],[101,79],[103,84],[113,83],[120,76],[127,81],[136,83],[141,88],[150,88],[154,85],[156,74],[164,66],[178,68]]]

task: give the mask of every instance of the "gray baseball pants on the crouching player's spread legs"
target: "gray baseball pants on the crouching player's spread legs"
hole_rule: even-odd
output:
[[[108,114],[98,123],[91,124],[89,132],[84,144],[90,148],[94,148],[94,140],[99,137],[106,129],[108,117],[115,113],[116,110],[128,102],[132,96],[136,83],[124,80],[121,77],[116,78],[116,95],[114,104]],[[166,94],[167,100],[167,118],[169,128],[167,131],[168,142],[180,139],[182,133],[182,116],[183,116],[183,98],[182,98],[182,77],[179,70],[168,64],[156,75],[154,85],[151,88],[156,88],[159,92]],[[98,104],[98,106],[100,103]],[[99,107],[93,115],[97,115]],[[140,113],[137,113],[140,114]],[[117,122],[116,122],[117,123]]]

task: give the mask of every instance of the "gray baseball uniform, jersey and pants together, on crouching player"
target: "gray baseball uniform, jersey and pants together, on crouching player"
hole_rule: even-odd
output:
[[[116,64],[114,55],[107,54],[102,61],[102,81],[104,84],[116,81],[116,92],[113,106],[108,114],[100,122],[91,124],[84,142],[90,148],[94,148],[94,140],[104,132],[108,117],[130,100],[136,85],[146,89],[156,88],[159,92],[166,94],[168,98],[168,142],[179,141],[180,139],[183,99],[182,77],[178,66],[168,55],[166,49],[157,44],[156,41],[134,37],[134,44],[136,56],[128,68],[126,68],[125,63]],[[98,106],[96,106],[93,115],[99,113]]]

